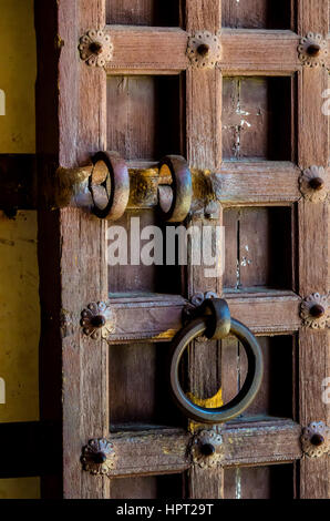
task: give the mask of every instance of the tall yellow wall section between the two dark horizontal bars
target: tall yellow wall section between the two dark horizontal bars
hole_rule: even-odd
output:
[[[40,330],[37,213],[0,214],[0,421],[35,421]]]

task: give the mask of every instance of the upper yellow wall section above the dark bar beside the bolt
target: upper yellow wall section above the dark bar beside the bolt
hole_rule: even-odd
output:
[[[6,115],[0,115],[0,153],[33,154],[37,75],[33,0],[1,0],[0,42],[0,89],[6,96]]]

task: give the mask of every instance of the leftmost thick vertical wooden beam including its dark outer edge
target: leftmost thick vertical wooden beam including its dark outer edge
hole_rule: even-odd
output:
[[[51,183],[59,164],[76,166],[105,149],[106,106],[104,70],[89,68],[78,52],[87,29],[104,27],[105,1],[44,3],[35,2],[38,151],[45,159],[39,170],[40,203],[45,174]],[[40,212],[41,417],[59,429],[54,477],[43,479],[43,497],[109,497],[109,480],[82,471],[80,462],[89,439],[109,432],[107,346],[84,338],[80,327],[85,305],[107,298],[105,227],[76,208]]]

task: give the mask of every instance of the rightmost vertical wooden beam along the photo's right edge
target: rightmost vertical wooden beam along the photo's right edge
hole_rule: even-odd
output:
[[[321,33],[329,30],[329,8],[323,0],[298,2],[298,30]],[[328,166],[329,116],[322,113],[322,92],[328,88],[328,71],[303,67],[299,80],[298,157],[305,170],[311,165]],[[329,292],[329,204],[299,202],[299,293]],[[326,421],[330,409],[322,401],[322,381],[330,375],[329,330],[303,328],[299,336],[300,423]],[[307,499],[330,497],[330,462],[323,457],[305,458],[300,463],[300,496]]]

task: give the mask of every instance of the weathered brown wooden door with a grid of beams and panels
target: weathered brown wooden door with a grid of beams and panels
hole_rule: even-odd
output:
[[[53,449],[43,494],[329,497],[327,433],[322,441],[305,431],[301,445],[309,423],[329,426],[328,1],[37,1],[35,17],[41,416]],[[110,35],[105,63],[97,47],[90,63],[80,55],[89,30]],[[205,38],[220,44],[215,54]],[[204,44],[196,52],[194,39]],[[130,167],[124,216],[112,223],[73,205],[47,210],[56,167],[89,165],[106,150]],[[158,223],[164,154],[183,155],[192,170],[185,224],[225,226],[224,276],[206,277],[205,266],[189,263],[107,265],[109,227],[130,231],[132,216]],[[205,292],[224,295],[265,358],[258,398],[218,427],[188,421],[166,387],[182,309]],[[100,300],[116,317],[106,339],[80,327],[81,311]],[[212,407],[235,396],[246,372],[231,337],[195,343],[185,362],[192,399]],[[223,437],[220,461],[193,458],[200,430]],[[111,443],[110,464],[93,474],[81,454],[100,438]]]

